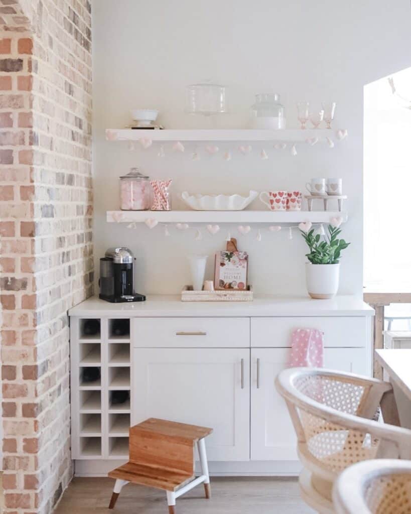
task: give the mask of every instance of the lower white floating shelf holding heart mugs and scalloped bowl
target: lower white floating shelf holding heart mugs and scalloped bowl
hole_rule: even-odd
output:
[[[348,215],[339,211],[107,211],[108,223],[329,223],[333,217]]]

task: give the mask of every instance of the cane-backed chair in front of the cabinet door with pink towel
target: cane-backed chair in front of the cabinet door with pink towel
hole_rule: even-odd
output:
[[[391,384],[352,373],[291,368],[276,378],[297,434],[300,493],[321,514],[334,512],[332,485],[351,464],[411,458],[411,430],[399,424]],[[381,408],[385,423],[373,420]]]

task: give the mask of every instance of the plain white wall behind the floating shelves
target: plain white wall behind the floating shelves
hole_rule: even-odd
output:
[[[126,245],[139,263],[138,290],[177,293],[189,281],[185,255],[211,255],[225,245],[227,230],[194,241],[194,229],[160,227],[130,230],[106,224],[105,211],[118,209],[118,177],[140,166],[153,178],[173,177],[178,193],[239,192],[248,189],[303,189],[311,176],[342,176],[350,221],[344,227],[352,245],[345,251],[340,292],[362,288],[362,130],[363,86],[411,61],[409,0],[98,0],[93,3],[95,255]],[[104,129],[129,122],[132,107],[156,107],[167,128],[206,126],[207,120],[184,114],[185,86],[211,79],[228,86],[231,114],[222,127],[243,127],[254,95],[277,91],[285,100],[288,126],[296,127],[295,102],[337,101],[336,125],[349,138],[333,150],[301,146],[298,155],[255,145],[254,155],[234,152],[190,160],[185,154],[157,157],[159,147],[127,150],[126,143],[104,140]],[[220,145],[222,147],[222,145]],[[261,161],[265,148],[269,160]],[[198,146],[201,150],[202,146]],[[261,208],[258,203],[255,208]],[[258,292],[304,293],[301,237],[286,231],[236,233],[239,247],[250,253],[250,282]],[[98,267],[97,267],[98,269]],[[209,273],[212,260],[209,260]],[[98,273],[97,273],[98,274]]]

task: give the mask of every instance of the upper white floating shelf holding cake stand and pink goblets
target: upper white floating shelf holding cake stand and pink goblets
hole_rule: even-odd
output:
[[[178,129],[166,128],[164,130],[133,129],[133,128],[106,128],[107,141],[138,141],[151,139],[152,141],[284,141],[297,143],[309,138],[319,138],[325,141],[327,137],[343,139],[344,130],[331,128],[306,130],[286,128],[284,130],[260,130],[254,128],[236,129]]]

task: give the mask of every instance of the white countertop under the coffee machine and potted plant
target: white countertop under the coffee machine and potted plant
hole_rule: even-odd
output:
[[[373,316],[360,298],[337,296],[332,300],[308,297],[254,295],[252,302],[182,302],[180,295],[148,295],[145,302],[109,303],[97,297],[72,307],[70,316],[125,317],[251,317],[251,316]]]

